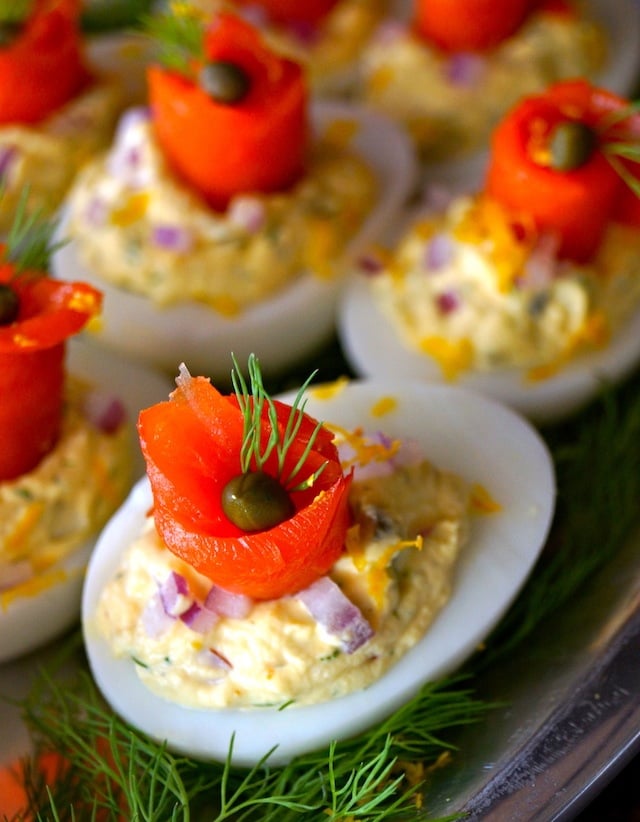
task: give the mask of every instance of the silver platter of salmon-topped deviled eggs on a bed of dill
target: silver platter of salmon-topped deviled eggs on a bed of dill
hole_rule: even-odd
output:
[[[420,2],[314,0],[304,20],[287,0],[135,6],[144,19],[100,0],[0,10],[0,72],[60,25],[53,97],[88,70],[127,106],[102,152],[76,158],[55,240],[40,235],[55,279],[14,280],[24,244],[0,247],[0,297],[22,306],[0,302],[2,379],[28,383],[3,400],[5,429],[26,433],[0,449],[20,520],[0,561],[0,818],[573,814],[640,749],[637,4],[523,3],[529,22],[584,22],[592,62],[514,101],[489,154],[443,163],[362,104],[353,66],[311,62],[321,33],[343,54],[349,19],[363,54],[433,26]],[[486,57],[449,50],[463,73]],[[577,219],[570,180],[598,191]],[[19,197],[8,212],[24,218]],[[572,344],[536,329],[528,349],[461,359],[436,323],[418,353],[407,317],[423,297],[398,308],[394,293],[405,268],[437,285],[496,236],[490,302],[530,288],[527,317],[564,306]],[[207,246],[217,284],[192,268]],[[464,302],[449,286],[445,324]],[[50,459],[38,414],[60,374],[19,367],[32,292],[49,308],[67,294],[40,343],[75,318],[64,419],[77,406],[119,437],[129,467],[94,471],[90,446],[68,496],[97,482],[109,512],[58,557],[73,517],[56,508],[29,560],[14,549],[42,506],[25,477]]]

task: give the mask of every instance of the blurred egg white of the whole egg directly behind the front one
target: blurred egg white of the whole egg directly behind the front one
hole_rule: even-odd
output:
[[[312,108],[317,128],[343,118],[358,123],[353,148],[376,173],[380,192],[346,251],[352,258],[394,220],[409,194],[415,165],[404,132],[382,116],[341,103]],[[342,287],[340,278],[328,281],[306,273],[271,299],[227,318],[196,302],[158,308],[144,296],[116,288],[83,266],[73,241],[54,255],[53,270],[55,276],[83,280],[103,292],[102,322],[96,332],[101,343],[168,372],[184,360],[194,373],[219,381],[228,381],[230,352],[239,362],[254,352],[263,373],[270,374],[320,347],[334,330]]]

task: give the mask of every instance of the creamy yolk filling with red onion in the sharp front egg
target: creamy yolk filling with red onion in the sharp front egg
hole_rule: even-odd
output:
[[[450,596],[476,494],[408,441],[335,435],[354,469],[351,525],[338,560],[302,590],[230,593],[167,550],[147,519],[96,624],[150,690],[206,708],[322,702],[366,687],[424,635]]]

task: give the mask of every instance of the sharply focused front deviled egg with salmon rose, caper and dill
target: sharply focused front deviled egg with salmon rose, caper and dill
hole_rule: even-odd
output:
[[[140,416],[148,479],[104,530],[83,594],[99,688],[171,749],[254,765],[275,747],[268,761],[282,764],[363,730],[472,653],[533,567],[552,464],[493,401],[393,380],[265,400],[260,419],[295,442],[285,475],[299,446],[304,467],[293,513],[256,527],[264,508],[237,507],[222,483],[240,469],[248,395],[221,397],[186,369],[177,382]],[[188,454],[203,436],[198,466]],[[206,498],[194,471],[213,483]]]

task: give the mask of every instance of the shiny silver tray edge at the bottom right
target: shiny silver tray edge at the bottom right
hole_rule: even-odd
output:
[[[428,813],[573,819],[640,751],[640,532],[479,684],[505,707],[454,740]]]

